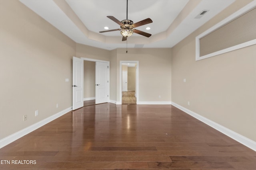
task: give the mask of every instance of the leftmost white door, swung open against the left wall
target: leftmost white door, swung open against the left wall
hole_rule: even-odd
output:
[[[84,106],[84,60],[73,57],[73,110]]]

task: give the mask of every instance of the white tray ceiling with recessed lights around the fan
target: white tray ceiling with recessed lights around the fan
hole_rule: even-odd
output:
[[[126,19],[126,0],[20,0],[76,43],[102,49],[173,47],[235,0],[128,0],[128,19],[134,23],[146,18],[153,23],[136,27],[152,34],[147,38],[134,33],[122,41],[120,31],[99,33],[104,27],[118,29]],[[203,10],[202,18],[195,19]],[[150,27],[150,30],[146,30]]]

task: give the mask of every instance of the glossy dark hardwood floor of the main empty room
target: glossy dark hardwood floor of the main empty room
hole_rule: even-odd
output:
[[[255,151],[170,105],[82,107],[0,149],[0,160],[26,170],[256,169]]]

